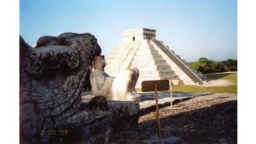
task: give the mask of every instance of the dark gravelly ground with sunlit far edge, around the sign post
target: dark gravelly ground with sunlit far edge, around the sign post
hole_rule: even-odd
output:
[[[237,95],[209,94],[141,115],[137,132],[120,133],[112,143],[237,143]],[[152,139],[152,140],[150,140]]]

